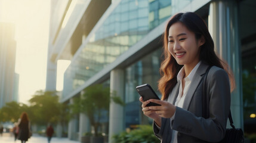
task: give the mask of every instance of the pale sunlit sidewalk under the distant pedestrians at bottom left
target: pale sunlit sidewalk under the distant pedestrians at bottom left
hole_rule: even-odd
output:
[[[33,135],[26,143],[48,143],[47,137]],[[3,133],[0,136],[0,143],[20,143],[20,140],[14,142],[14,136],[10,133]],[[68,138],[52,138],[51,143],[79,143],[78,141],[71,141]]]

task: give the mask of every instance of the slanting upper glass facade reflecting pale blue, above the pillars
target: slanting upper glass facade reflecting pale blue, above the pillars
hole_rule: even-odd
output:
[[[89,42],[81,47],[82,50],[72,60],[64,74],[63,97],[75,91],[169,18],[174,13],[173,7],[183,8],[189,2],[191,1],[121,1],[103,24],[91,33]]]

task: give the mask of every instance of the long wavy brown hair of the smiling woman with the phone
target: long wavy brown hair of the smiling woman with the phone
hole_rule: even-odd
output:
[[[179,65],[171,53],[168,51],[168,36],[169,28],[172,24],[181,22],[187,29],[195,33],[196,39],[200,39],[202,36],[205,38],[205,43],[200,48],[200,60],[209,66],[217,66],[224,69],[229,74],[231,89],[235,86],[233,74],[231,70],[227,70],[229,67],[224,61],[220,60],[214,51],[214,41],[209,33],[208,27],[205,21],[195,13],[178,13],[171,17],[166,24],[164,32],[164,60],[161,63],[160,74],[161,79],[158,81],[158,89],[162,94],[162,100],[168,98],[169,93],[172,91],[177,83],[177,74],[180,71],[182,65]],[[225,67],[225,68],[223,68]]]

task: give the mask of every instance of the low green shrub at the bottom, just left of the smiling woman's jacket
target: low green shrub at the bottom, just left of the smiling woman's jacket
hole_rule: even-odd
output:
[[[160,142],[153,133],[152,125],[139,125],[131,132],[113,135],[113,143],[156,143]]]

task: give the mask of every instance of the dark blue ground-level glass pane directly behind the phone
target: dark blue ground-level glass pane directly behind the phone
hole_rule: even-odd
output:
[[[141,114],[141,104],[138,101],[140,96],[135,90],[136,86],[148,83],[161,98],[158,91],[161,55],[162,48],[158,48],[125,69],[125,128],[132,128],[132,125],[145,122],[143,120],[144,116]],[[146,119],[147,122],[149,120]]]

